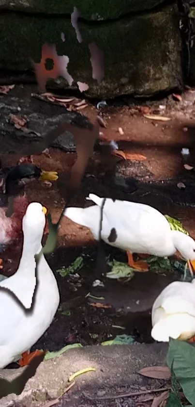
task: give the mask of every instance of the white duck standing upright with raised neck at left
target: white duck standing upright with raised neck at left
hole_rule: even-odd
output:
[[[58,285],[43,254],[35,276],[34,255],[42,249],[45,213],[45,207],[38,202],[28,206],[22,222],[24,242],[19,267],[15,275],[0,282],[0,368],[18,360],[38,341],[59,306]],[[3,288],[15,293],[23,306]]]

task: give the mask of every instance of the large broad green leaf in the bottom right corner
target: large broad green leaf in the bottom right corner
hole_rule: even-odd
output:
[[[169,369],[173,368],[186,399],[195,404],[195,348],[189,343],[170,339],[167,354]]]

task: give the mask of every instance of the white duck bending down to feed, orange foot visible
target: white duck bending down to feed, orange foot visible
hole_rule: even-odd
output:
[[[172,256],[177,250],[195,269],[195,241],[186,234],[171,230],[165,216],[149,205],[128,201],[113,201],[90,194],[87,199],[96,205],[89,208],[66,208],[64,215],[79,225],[90,228],[99,239],[101,207],[103,220],[101,239],[111,246],[127,251],[128,264],[136,270],[147,271],[144,261],[133,260],[133,253],[159,257]]]

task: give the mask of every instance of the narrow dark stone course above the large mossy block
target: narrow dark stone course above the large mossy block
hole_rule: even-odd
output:
[[[76,6],[82,18],[105,20],[123,16],[130,12],[151,10],[165,0],[0,0],[0,9],[21,10],[45,14],[72,14]]]

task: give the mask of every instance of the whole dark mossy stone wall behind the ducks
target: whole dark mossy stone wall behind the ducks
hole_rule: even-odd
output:
[[[167,6],[163,0],[79,0],[81,43],[71,24],[74,5],[73,0],[66,4],[0,0],[0,69],[31,69],[30,58],[40,62],[42,45],[55,43],[58,55],[69,57],[73,88],[77,81],[86,82],[89,96],[150,96],[182,87],[176,2]],[[88,45],[93,41],[104,52],[105,76],[100,84],[91,75]],[[65,79],[56,82],[69,87]]]

